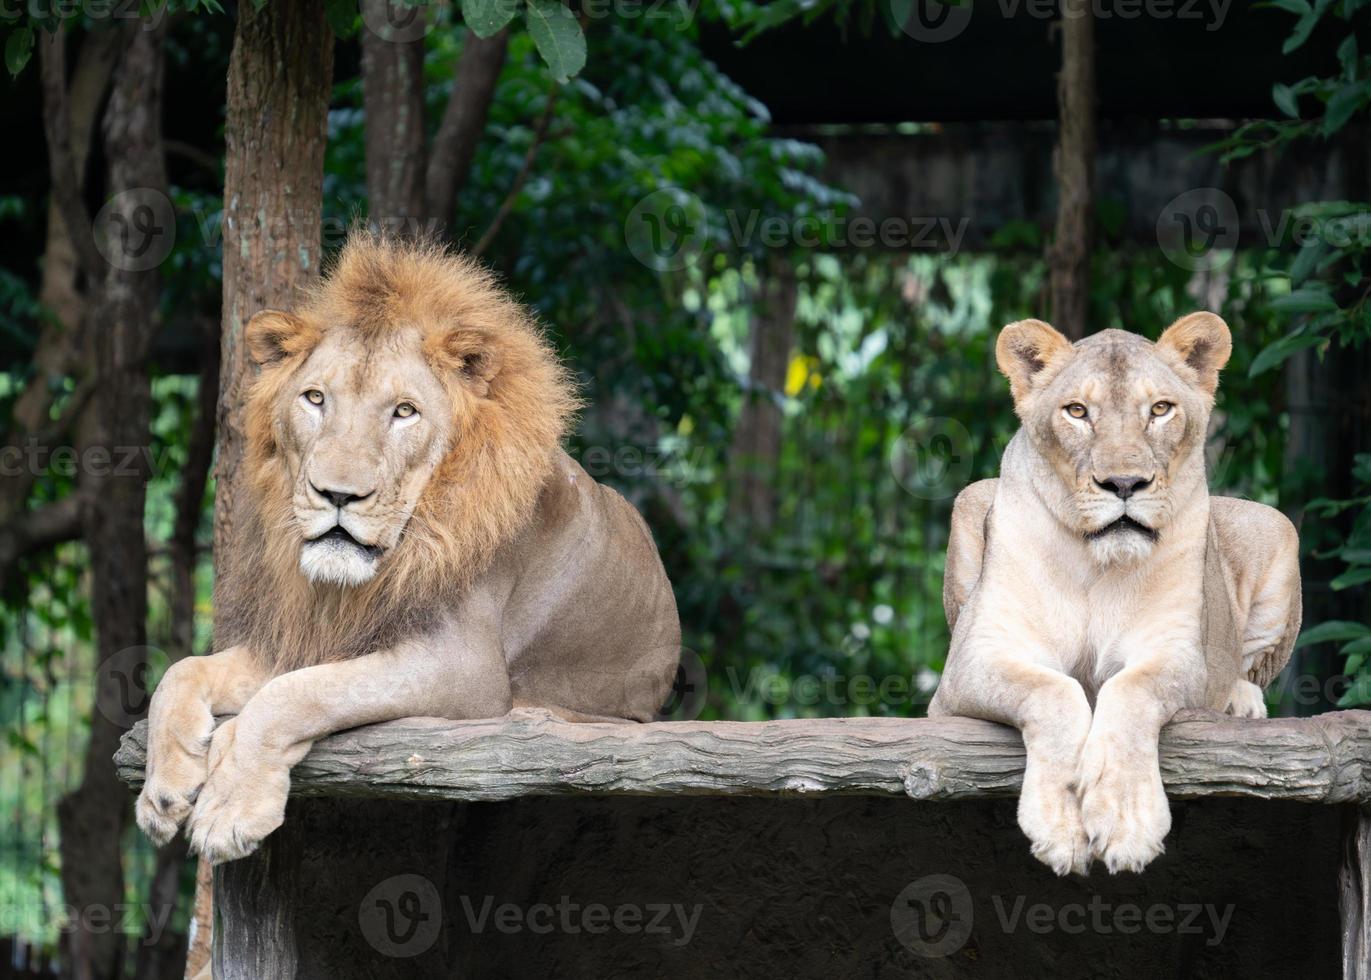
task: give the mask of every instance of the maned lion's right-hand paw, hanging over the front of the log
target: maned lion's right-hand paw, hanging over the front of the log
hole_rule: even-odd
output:
[[[255,851],[285,820],[291,791],[291,768],[244,758],[236,736],[236,718],[214,733],[210,777],[186,825],[191,850],[214,865]]]

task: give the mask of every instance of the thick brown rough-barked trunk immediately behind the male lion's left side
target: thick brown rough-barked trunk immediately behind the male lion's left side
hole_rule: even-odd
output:
[[[333,34],[322,0],[239,8],[229,59],[223,181],[223,325],[214,551],[232,535],[251,381],[243,325],[289,307],[319,274],[324,143]]]

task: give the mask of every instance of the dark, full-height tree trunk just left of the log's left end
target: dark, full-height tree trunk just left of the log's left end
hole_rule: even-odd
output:
[[[166,192],[163,27],[132,21],[121,34],[122,55],[104,115],[111,228],[141,230],[149,228],[144,195],[165,197]],[[122,240],[125,247],[151,244],[129,238]],[[85,540],[99,661],[95,710],[81,785],[58,806],[64,899],[81,913],[66,933],[63,954],[69,975],[78,980],[112,980],[122,972],[123,938],[108,928],[108,917],[125,901],[119,839],[129,796],[115,777],[112,757],[119,736],[147,710],[138,680],[147,626],[143,517],[148,474],[141,452],[130,456],[129,451],[148,444],[147,352],[158,323],[159,273],[134,260],[141,252],[112,251],[118,248],[111,244],[103,284],[90,289],[96,389],[89,447],[108,455],[97,463],[93,454],[85,454],[89,465],[80,474],[88,500]]]

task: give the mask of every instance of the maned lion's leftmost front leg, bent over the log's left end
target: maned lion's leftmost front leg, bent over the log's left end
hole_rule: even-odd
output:
[[[173,663],[148,709],[148,763],[134,806],[138,826],[158,844],[191,816],[207,776],[214,715],[241,711],[266,683],[247,647]]]

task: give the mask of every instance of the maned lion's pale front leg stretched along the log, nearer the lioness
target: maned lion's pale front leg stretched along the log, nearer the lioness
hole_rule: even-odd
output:
[[[489,643],[414,641],[274,677],[214,733],[191,848],[213,863],[255,851],[285,818],[291,766],[315,739],[410,715],[489,718],[509,709],[509,673]]]

